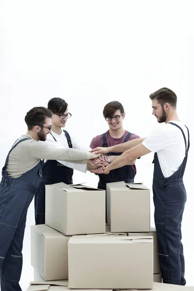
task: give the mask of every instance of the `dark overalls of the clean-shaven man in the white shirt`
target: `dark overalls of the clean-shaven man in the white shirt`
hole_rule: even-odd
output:
[[[72,148],[71,139],[66,130],[64,130],[69,148]],[[50,133],[51,134],[51,133]],[[52,135],[52,134],[51,134]],[[54,136],[53,139],[56,141]],[[42,170],[42,180],[34,196],[35,224],[45,224],[45,185],[64,182],[73,184],[73,169],[68,168],[55,160],[49,160],[45,163]]]

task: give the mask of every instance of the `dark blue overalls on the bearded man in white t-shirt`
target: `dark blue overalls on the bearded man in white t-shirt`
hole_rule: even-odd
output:
[[[169,123],[178,127],[183,134],[186,147],[185,158],[177,172],[169,178],[164,178],[158,155],[155,153],[153,178],[154,219],[158,235],[158,250],[163,283],[185,285],[181,222],[186,202],[183,175],[187,163],[190,142],[188,138],[187,146],[183,130],[177,124],[173,122]]]

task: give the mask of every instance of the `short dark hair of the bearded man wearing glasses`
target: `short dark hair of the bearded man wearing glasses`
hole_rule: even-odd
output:
[[[32,130],[35,125],[43,126],[46,117],[52,117],[52,112],[49,109],[46,107],[33,107],[25,116],[28,130]]]

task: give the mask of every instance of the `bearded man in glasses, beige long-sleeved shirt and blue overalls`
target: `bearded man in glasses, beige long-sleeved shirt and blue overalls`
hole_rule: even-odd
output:
[[[63,160],[87,163],[99,155],[71,148],[50,147],[52,113],[34,107],[25,116],[28,126],[9,151],[0,182],[0,289],[20,291],[22,244],[28,207],[42,177],[42,161]]]

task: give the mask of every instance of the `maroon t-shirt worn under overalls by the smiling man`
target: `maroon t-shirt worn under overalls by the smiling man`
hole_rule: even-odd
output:
[[[107,146],[115,146],[119,144],[123,144],[126,136],[128,135],[129,131],[125,131],[125,133],[120,138],[114,138],[110,136],[109,130],[106,132],[106,139],[107,139]],[[131,133],[129,136],[128,141],[131,141],[132,139],[140,138],[139,135],[136,135],[134,133]],[[90,143],[90,147],[96,148],[97,146],[103,145],[103,134],[97,135],[94,137]],[[135,165],[132,165],[133,171],[136,174],[136,167]]]

